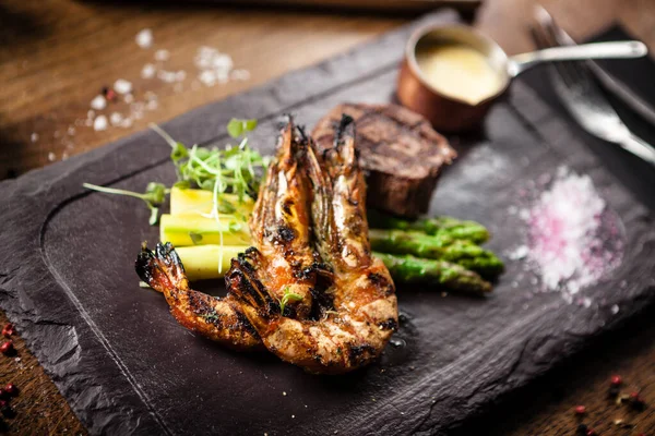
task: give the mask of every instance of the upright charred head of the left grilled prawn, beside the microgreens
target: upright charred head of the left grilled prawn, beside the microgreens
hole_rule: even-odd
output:
[[[289,117],[250,217],[254,247],[237,259],[254,267],[275,300],[282,301],[285,293],[296,295],[285,305],[285,315],[299,318],[309,316],[320,267],[311,245],[311,185],[298,160],[303,146]]]

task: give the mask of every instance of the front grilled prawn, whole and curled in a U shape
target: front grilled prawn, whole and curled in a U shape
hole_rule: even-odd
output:
[[[271,352],[312,373],[346,373],[377,359],[391,338],[397,326],[395,289],[386,267],[371,256],[352,119],[342,120],[324,161],[313,146],[300,152],[313,185],[317,249],[333,269],[324,291],[333,310],[319,320],[285,316],[247,259],[233,261],[226,282]]]

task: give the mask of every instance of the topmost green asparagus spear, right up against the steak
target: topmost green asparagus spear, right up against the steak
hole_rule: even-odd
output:
[[[475,221],[463,221],[452,217],[420,218],[409,221],[392,217],[377,210],[368,210],[371,228],[414,230],[430,235],[448,235],[453,239],[468,240],[478,244],[489,240],[489,231]]]

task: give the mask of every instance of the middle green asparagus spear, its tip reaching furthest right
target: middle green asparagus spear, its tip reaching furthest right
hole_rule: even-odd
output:
[[[369,239],[371,247],[378,252],[446,261],[485,277],[498,276],[504,268],[502,261],[489,250],[445,234],[428,235],[417,231],[370,229]]]

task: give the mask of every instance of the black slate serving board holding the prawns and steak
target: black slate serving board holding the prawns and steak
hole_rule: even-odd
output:
[[[454,20],[428,15],[164,129],[187,144],[223,143],[229,118],[255,117],[253,143],[270,152],[282,112],[312,125],[344,100],[390,100],[410,31]],[[443,433],[655,300],[647,210],[524,84],[493,108],[484,135],[454,140],[461,158],[432,211],[489,225],[490,247],[500,253],[522,238],[522,223],[507,214],[517,189],[560,165],[593,178],[624,225],[627,250],[611,277],[582,291],[591,307],[558,293],[528,299],[534,286],[525,277],[512,288],[522,265],[510,262],[487,299],[401,289],[398,338],[407,346],[390,347],[355,374],[318,377],[265,354],[224,350],[181,328],[159,294],[138,287],[140,242],[157,239],[142,204],[81,186],[171,181],[168,146],[152,132],[0,183],[0,305],[95,434]]]

